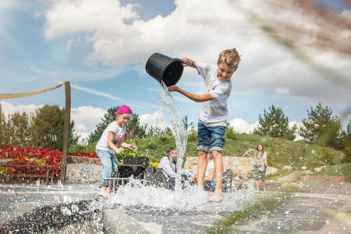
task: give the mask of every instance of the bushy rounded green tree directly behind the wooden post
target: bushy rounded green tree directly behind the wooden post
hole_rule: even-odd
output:
[[[37,147],[51,147],[62,151],[65,109],[58,105],[45,105],[31,114],[31,143]],[[79,137],[74,134],[73,120],[69,125],[69,144],[77,145]]]

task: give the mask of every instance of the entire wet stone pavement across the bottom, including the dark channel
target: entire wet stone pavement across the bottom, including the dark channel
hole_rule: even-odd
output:
[[[53,224],[62,226],[60,223],[64,220],[62,216],[67,217],[66,221],[73,223],[73,225],[64,224],[67,227],[71,225],[71,229],[60,232],[51,230],[50,233],[73,233],[72,230],[75,230],[74,233],[124,234],[351,233],[350,188],[351,183],[346,182],[267,181],[268,192],[252,193],[252,201],[255,205],[259,205],[259,208],[256,207],[251,211],[250,207],[253,204],[247,201],[239,204],[241,208],[237,208],[233,213],[216,212],[216,204],[210,212],[185,213],[145,212],[147,209],[142,207],[121,207],[113,204],[102,208],[102,214],[100,207],[97,213],[89,213],[87,216],[84,210],[89,208],[91,201],[104,203],[104,199],[99,200],[101,198],[97,196],[99,190],[97,186],[0,184],[0,233],[9,233],[5,226],[12,228],[12,233],[38,233],[35,229],[26,229],[27,226],[33,225],[33,220],[41,222],[42,226]],[[245,193],[245,190],[225,193],[225,199],[240,197]],[[26,217],[29,213],[32,213],[32,216],[28,221]],[[236,220],[238,216],[241,219]],[[78,226],[87,227],[78,230],[73,220],[78,220]],[[138,229],[131,232],[132,227],[125,227],[126,223],[132,223],[132,227]],[[103,225],[105,230],[102,228]],[[122,229],[116,230],[114,227]]]

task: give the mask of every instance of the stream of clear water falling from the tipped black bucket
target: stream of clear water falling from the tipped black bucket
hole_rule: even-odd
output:
[[[159,93],[159,99],[165,106],[165,108],[169,109],[169,113],[171,116],[172,123],[172,132],[174,135],[174,140],[176,141],[177,146],[177,177],[176,177],[176,185],[175,191],[181,194],[181,165],[183,164],[183,157],[186,149],[186,141],[188,138],[188,134],[185,130],[184,124],[181,121],[179,109],[176,109],[173,102],[173,96],[168,91],[167,86],[162,81],[161,88]]]

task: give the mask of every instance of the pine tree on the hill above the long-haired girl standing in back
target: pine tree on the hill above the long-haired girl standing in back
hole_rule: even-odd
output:
[[[272,105],[268,109],[269,111],[264,109],[263,117],[259,115],[259,125],[253,129],[253,134],[294,140],[297,126],[294,125],[292,129],[289,129],[289,119],[281,108]]]

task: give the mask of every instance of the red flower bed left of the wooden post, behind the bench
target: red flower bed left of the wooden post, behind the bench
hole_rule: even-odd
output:
[[[45,165],[60,166],[62,152],[57,149],[39,148],[31,146],[0,146],[1,159],[13,159],[11,165]],[[50,168],[50,176],[57,179],[60,175],[60,168]],[[11,168],[9,174],[45,174],[45,168]]]

